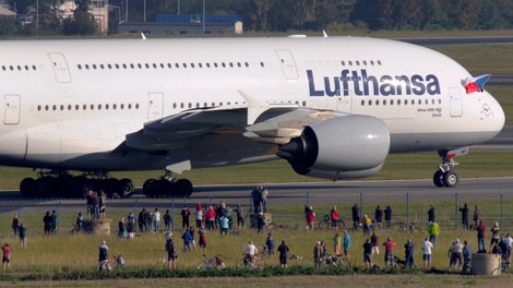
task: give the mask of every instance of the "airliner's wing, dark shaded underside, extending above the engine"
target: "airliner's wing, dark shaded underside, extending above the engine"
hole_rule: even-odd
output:
[[[267,104],[239,91],[244,104],[198,108],[153,120],[127,135],[126,145],[143,151],[168,151],[199,143],[223,133],[242,133],[256,142],[285,144],[299,136],[311,122],[334,118],[338,112]]]

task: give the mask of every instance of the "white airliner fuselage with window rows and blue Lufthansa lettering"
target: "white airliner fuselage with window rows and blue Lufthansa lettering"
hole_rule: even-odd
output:
[[[427,48],[372,38],[1,41],[0,165],[164,169],[169,155],[124,145],[144,123],[196,108],[243,107],[243,91],[382,119],[390,153],[440,151],[493,137],[497,100],[466,94],[469,73]],[[192,167],[275,159],[275,144],[237,133],[184,145]]]

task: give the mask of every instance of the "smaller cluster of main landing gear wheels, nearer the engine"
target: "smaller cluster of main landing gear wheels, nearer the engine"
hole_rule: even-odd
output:
[[[157,179],[147,179],[143,184],[143,193],[148,199],[154,197],[189,197],[192,194],[192,183],[187,179],[176,179],[170,171]]]

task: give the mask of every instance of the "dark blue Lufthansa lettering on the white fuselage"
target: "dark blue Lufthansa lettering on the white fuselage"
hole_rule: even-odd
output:
[[[307,70],[311,97],[440,95],[440,83],[433,74],[422,75],[368,75],[367,70],[343,70],[341,76],[324,77],[323,85],[315,87],[312,70]]]

